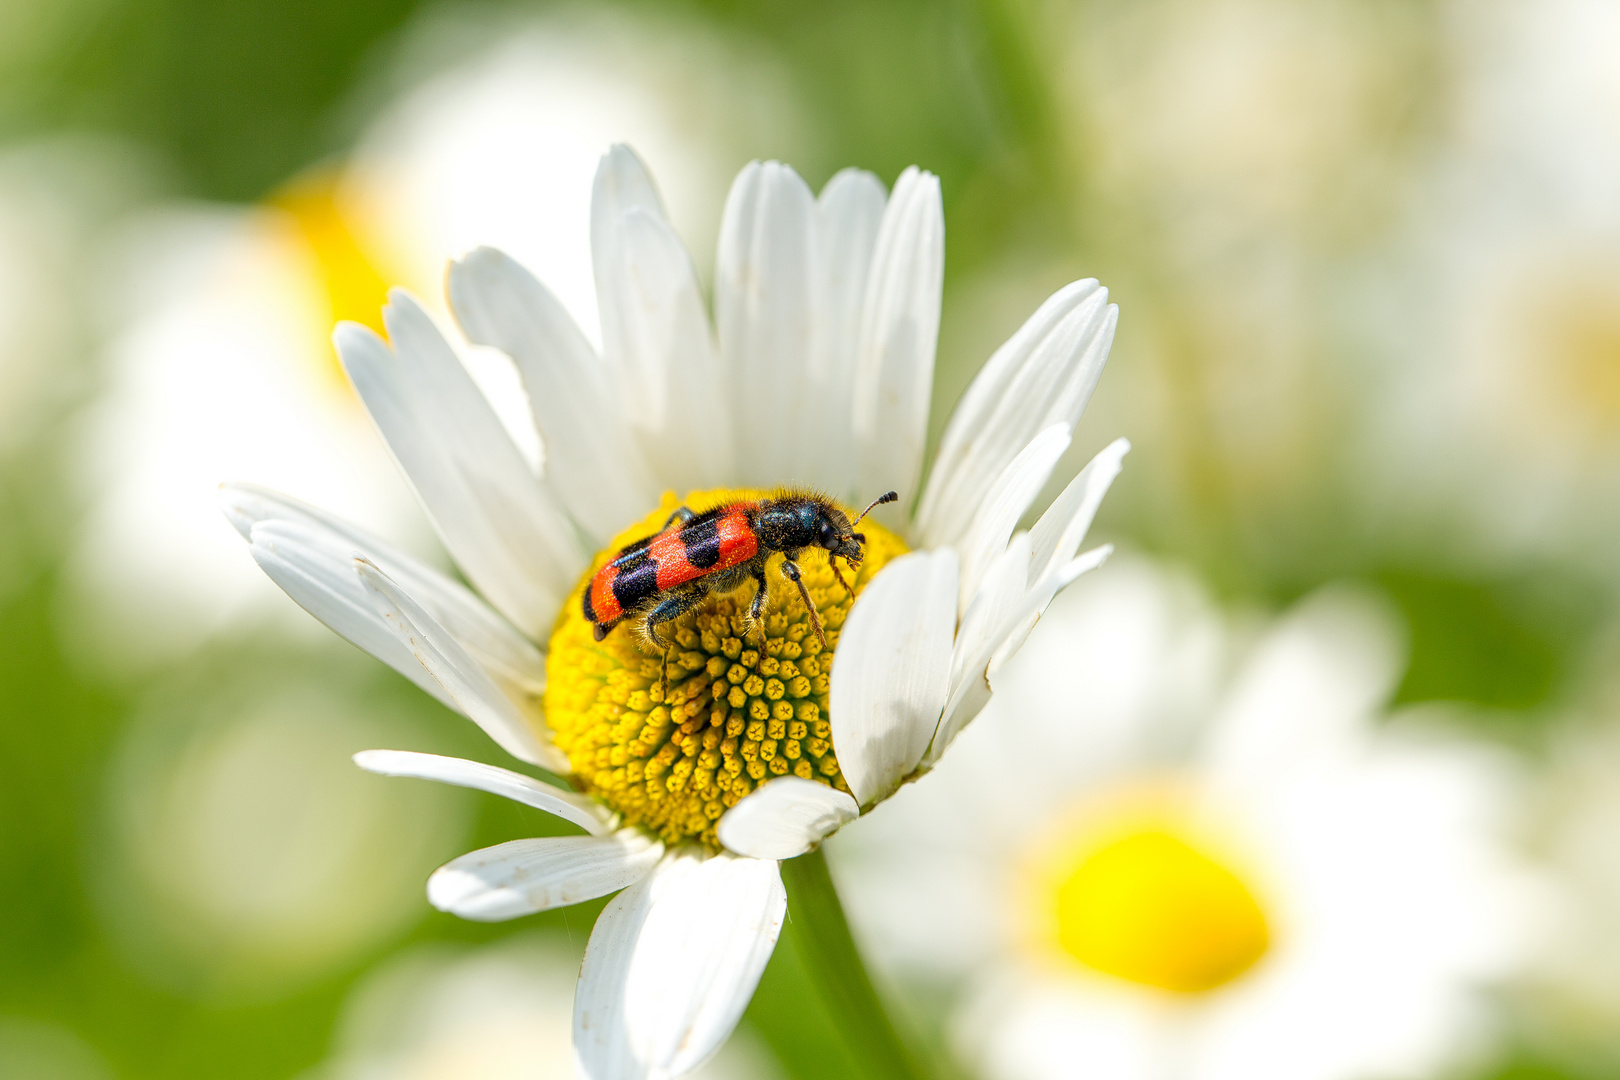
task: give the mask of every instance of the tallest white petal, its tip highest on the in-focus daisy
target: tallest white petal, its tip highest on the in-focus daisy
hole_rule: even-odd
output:
[[[653,478],[682,492],[727,483],[731,410],[718,405],[726,392],[697,270],[625,147],[596,172],[591,261],[603,359]]]

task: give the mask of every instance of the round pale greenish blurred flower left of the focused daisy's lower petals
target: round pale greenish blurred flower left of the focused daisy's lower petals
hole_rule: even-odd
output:
[[[368,708],[340,680],[296,678],[147,703],[113,761],[96,860],[104,916],[143,973],[275,994],[420,918],[413,886],[462,842],[467,803],[356,777],[348,755],[384,730]]]

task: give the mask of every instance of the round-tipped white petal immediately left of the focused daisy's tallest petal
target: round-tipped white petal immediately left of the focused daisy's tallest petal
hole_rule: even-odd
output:
[[[658,504],[658,484],[620,421],[606,363],[539,280],[494,248],[450,264],[467,337],[517,364],[546,445],[546,478],[598,542]]]

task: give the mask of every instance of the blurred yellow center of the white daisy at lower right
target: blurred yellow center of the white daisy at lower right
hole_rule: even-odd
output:
[[[1196,994],[1225,986],[1270,947],[1254,892],[1217,845],[1160,803],[1069,832],[1042,868],[1037,904],[1050,944],[1082,965]]]

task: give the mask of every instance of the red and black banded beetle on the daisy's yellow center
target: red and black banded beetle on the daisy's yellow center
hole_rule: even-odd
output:
[[[773,552],[782,552],[782,576],[799,586],[810,612],[810,628],[826,648],[821,615],[800,576],[799,554],[805,547],[825,549],[838,583],[854,596],[836,560],[842,559],[850,572],[857,570],[867,538],[855,526],[875,507],[897,499],[899,494],[885,492],[854,521],[826,495],[797,489],[781,489],[766,499],[732,502],[703,513],[680,507],[663,529],[619,549],[591,576],[580,606],[598,641],[620,622],[638,620],[646,641],[664,654],[661,685],[667,690],[674,641],[666,641],[658,628],[697,607],[708,594],[731,593],[750,580],[757,589],[748,604],[748,625],[758,627],[768,597],[765,562]]]

